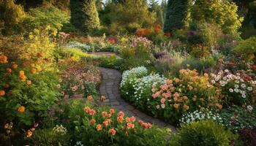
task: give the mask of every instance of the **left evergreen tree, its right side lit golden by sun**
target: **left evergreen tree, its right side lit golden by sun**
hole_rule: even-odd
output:
[[[89,33],[99,27],[99,15],[94,0],[70,0],[70,22]]]

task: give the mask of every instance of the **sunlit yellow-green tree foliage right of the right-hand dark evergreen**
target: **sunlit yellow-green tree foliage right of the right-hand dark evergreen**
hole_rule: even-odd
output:
[[[238,7],[231,1],[198,0],[191,9],[192,21],[216,23],[227,34],[235,34],[241,27],[243,18],[239,17]]]

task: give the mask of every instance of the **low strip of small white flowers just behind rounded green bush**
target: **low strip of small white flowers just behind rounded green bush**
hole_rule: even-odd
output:
[[[217,123],[222,123],[222,118],[219,114],[212,113],[211,110],[199,111],[195,110],[194,112],[189,112],[182,115],[182,118],[179,120],[181,123],[191,123],[193,121],[211,119],[217,121]]]

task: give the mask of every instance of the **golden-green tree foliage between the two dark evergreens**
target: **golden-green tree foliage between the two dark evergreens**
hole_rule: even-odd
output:
[[[138,28],[152,26],[156,21],[155,12],[149,12],[143,0],[129,0],[124,4],[110,4],[109,7],[110,27],[113,31],[134,33]]]

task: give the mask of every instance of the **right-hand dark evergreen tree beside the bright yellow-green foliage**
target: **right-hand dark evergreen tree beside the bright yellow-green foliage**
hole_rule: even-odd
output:
[[[167,4],[164,31],[185,28],[189,20],[189,0],[169,0]]]

